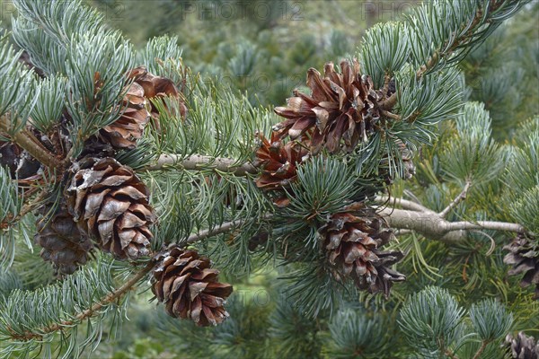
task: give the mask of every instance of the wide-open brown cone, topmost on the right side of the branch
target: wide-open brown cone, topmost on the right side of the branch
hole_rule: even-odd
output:
[[[312,95],[295,91],[287,99],[287,107],[275,108],[275,112],[287,120],[274,129],[278,137],[298,136],[310,132],[311,151],[316,154],[324,146],[330,153],[342,148],[350,152],[359,141],[367,142],[368,136],[377,131],[380,120],[378,101],[384,96],[375,91],[370,76],[360,74],[359,63],[354,60],[340,63],[341,74],[333,64],[324,66],[324,75],[310,68],[307,86]]]

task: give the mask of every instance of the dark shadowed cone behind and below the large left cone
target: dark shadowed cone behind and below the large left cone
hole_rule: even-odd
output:
[[[42,212],[45,213],[47,208]],[[86,264],[93,248],[92,241],[79,232],[64,204],[57,208],[55,215],[41,218],[37,228],[34,241],[42,247],[40,256],[52,262],[58,275],[71,275],[77,267]]]

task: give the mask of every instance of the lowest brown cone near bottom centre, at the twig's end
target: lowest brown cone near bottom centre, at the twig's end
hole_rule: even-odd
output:
[[[195,250],[173,247],[159,258],[152,291],[169,315],[193,320],[199,327],[217,325],[228,317],[223,304],[232,285],[217,282],[219,271]]]

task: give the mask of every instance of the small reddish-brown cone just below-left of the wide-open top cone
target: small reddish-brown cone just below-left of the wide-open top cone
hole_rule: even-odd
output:
[[[261,146],[256,152],[256,164],[261,167],[261,177],[256,185],[262,189],[287,188],[296,180],[296,167],[304,162],[307,149],[296,141],[283,144],[276,133],[271,134],[271,143],[260,135]]]

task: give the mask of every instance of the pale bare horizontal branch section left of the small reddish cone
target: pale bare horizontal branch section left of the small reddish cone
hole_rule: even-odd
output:
[[[256,167],[251,163],[237,164],[235,160],[229,158],[215,158],[201,154],[193,154],[182,159],[177,154],[162,154],[157,162],[146,167],[148,171],[163,170],[166,167],[180,167],[185,170],[206,170],[234,173],[236,176],[245,176],[248,173],[257,173]]]

